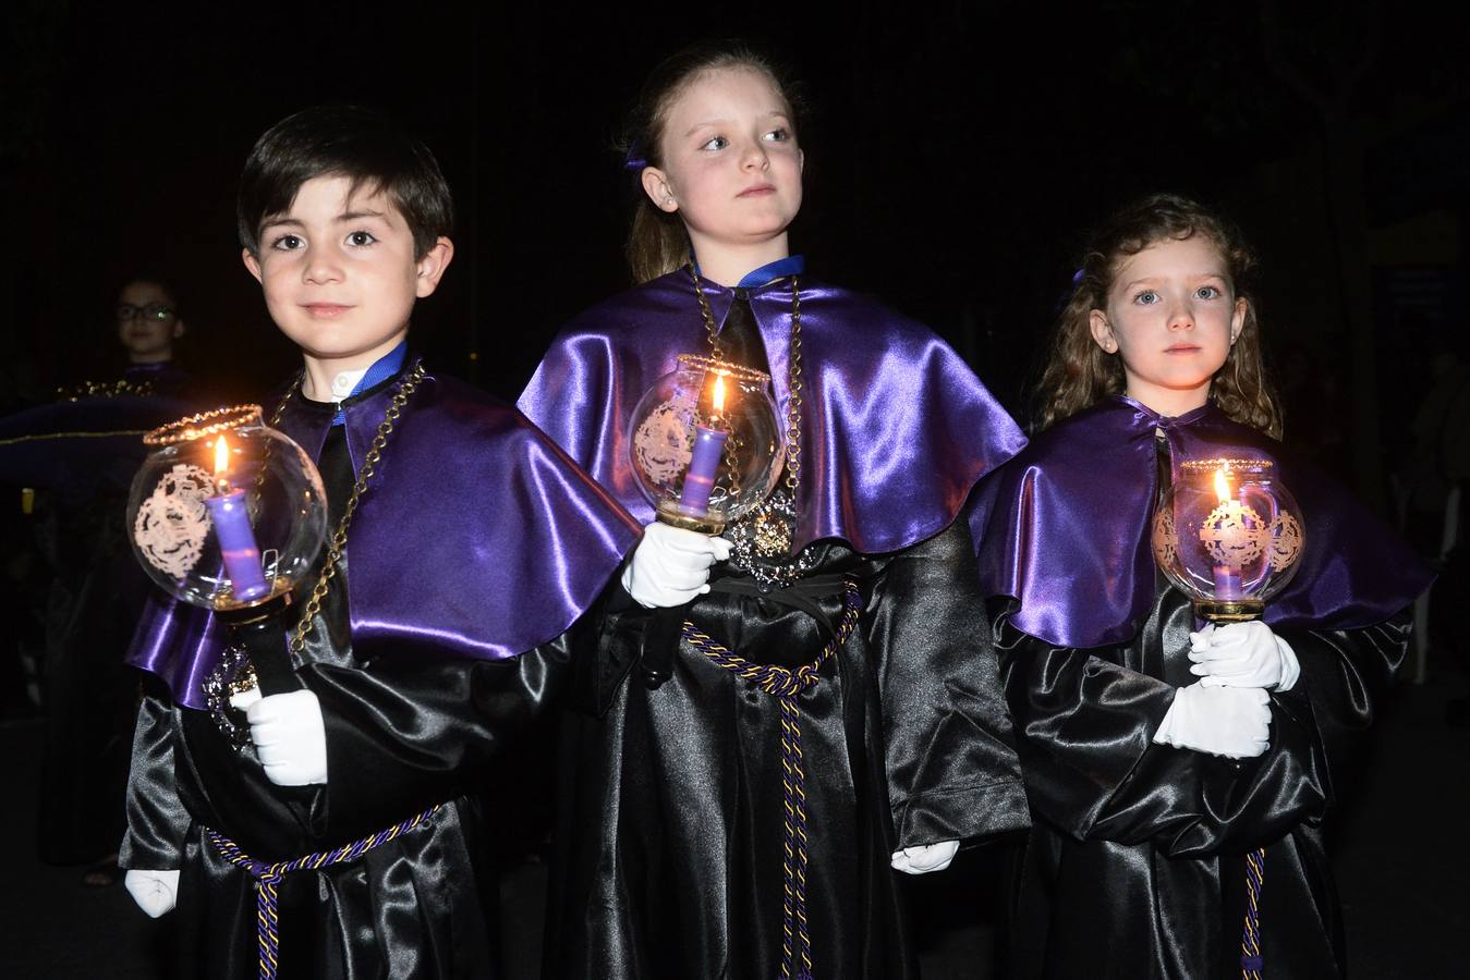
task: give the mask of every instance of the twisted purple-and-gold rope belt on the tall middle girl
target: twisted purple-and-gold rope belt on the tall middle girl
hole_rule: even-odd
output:
[[[720,592],[742,591],[734,588],[734,585],[719,582],[713,588]],[[857,582],[853,579],[842,579],[842,585],[845,592],[842,620],[833,630],[832,641],[822,648],[816,660],[795,670],[744,660],[729,648],[716,644],[707,633],[700,632],[688,620],[684,621],[682,629],[685,642],[704,654],[711,663],[726,670],[734,670],[744,680],[756,682],[761,691],[775,695],[781,701],[782,805],[785,808],[784,855],[781,864],[784,887],[781,976],[784,980],[791,980],[792,977],[795,980],[811,980],[811,934],[807,930],[807,774],[806,763],[801,757],[801,713],[797,696],[816,685],[822,666],[832,658],[832,654],[847,642],[847,638],[857,627],[857,619],[863,608],[863,597],[857,591]],[[754,595],[778,602],[782,601],[779,592],[754,592]],[[791,605],[813,608],[807,602],[794,602]],[[826,617],[819,616],[819,619],[825,620]],[[798,956],[801,968],[795,970]]]

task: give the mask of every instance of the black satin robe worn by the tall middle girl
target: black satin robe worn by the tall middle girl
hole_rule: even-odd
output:
[[[888,555],[819,545],[820,598],[841,576],[863,611],[800,695],[807,773],[813,973],[917,976],[897,846],[1026,824],[1026,802],[963,520]],[[716,569],[719,576],[720,567]],[[747,660],[798,667],[831,632],[770,598],[714,591],[685,610]],[[666,639],[660,639],[660,636]],[[667,655],[648,689],[639,658]],[[778,976],[782,940],[781,707],[625,605],[575,666],[564,730],[545,976],[598,980]]]

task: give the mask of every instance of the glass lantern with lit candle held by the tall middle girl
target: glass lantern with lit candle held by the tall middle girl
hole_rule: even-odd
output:
[[[784,441],[770,376],[700,354],[634,408],[628,451],[659,520],[717,535],[781,478]]]

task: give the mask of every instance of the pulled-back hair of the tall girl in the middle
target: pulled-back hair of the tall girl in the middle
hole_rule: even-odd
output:
[[[632,229],[628,234],[628,264],[638,282],[657,279],[689,263],[689,235],[684,229],[684,220],[678,212],[670,215],[648,200],[641,185],[641,175],[644,167],[663,166],[663,128],[675,100],[704,75],[725,69],[747,69],[769,78],[776,93],[786,101],[792,131],[800,131],[797,116],[801,112],[801,100],[795,93],[797,87],[770,59],[744,43],[697,44],[667,57],[653,69],[628,116],[622,147],[638,195]]]

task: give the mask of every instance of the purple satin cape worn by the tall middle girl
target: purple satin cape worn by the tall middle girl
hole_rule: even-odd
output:
[[[723,325],[735,291],[701,285]],[[785,417],[791,279],[747,294]],[[685,353],[706,354],[709,342],[694,282],[681,270],[572,320],[517,403],[642,523],[654,510],[628,460],[629,422]],[[798,547],[842,538],[875,554],[923,541],[1026,444],[948,344],[848,289],[801,279],[801,369]]]

